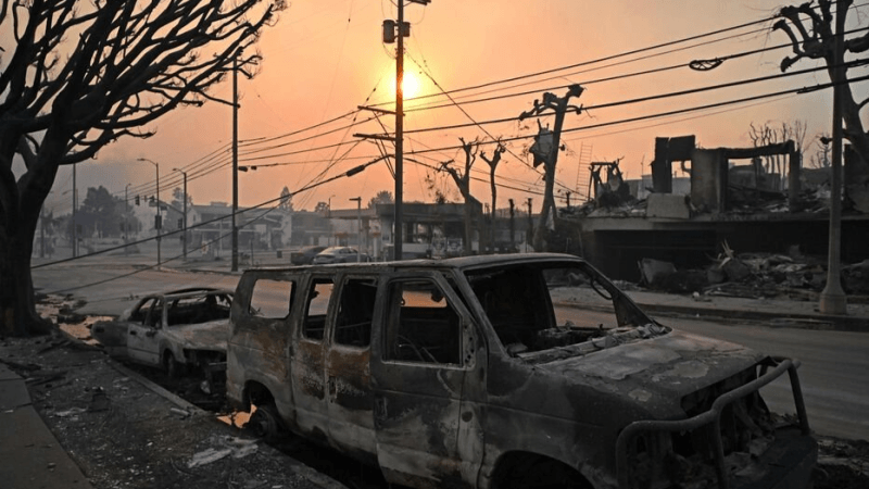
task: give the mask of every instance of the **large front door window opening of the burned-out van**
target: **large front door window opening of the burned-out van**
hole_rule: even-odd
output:
[[[389,293],[386,360],[462,364],[459,316],[437,283],[396,281]]]

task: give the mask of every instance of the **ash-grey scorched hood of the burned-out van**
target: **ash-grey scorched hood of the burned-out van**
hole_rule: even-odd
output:
[[[537,368],[607,391],[657,418],[682,413],[681,399],[761,361],[748,348],[671,330],[651,339],[572,356]]]

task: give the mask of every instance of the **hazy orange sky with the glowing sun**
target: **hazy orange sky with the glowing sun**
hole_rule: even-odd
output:
[[[534,211],[538,211],[543,189],[540,174],[517,159],[521,158],[524,148],[531,141],[530,136],[537,131],[533,120],[522,124],[515,120],[487,124],[482,126],[486,131],[475,126],[415,134],[413,130],[471,121],[515,118],[530,109],[534,99],[541,98],[544,91],[562,96],[566,92],[564,87],[572,83],[585,87],[584,93],[572,102],[595,106],[776,75],[780,73],[782,57],[790,52],[788,49],[729,60],[707,72],[679,67],[652,75],[625,76],[785,43],[784,34],[770,32],[771,22],[606,62],[582,63],[764,20],[783,4],[780,0],[432,0],[428,7],[408,4],[405,18],[412,24],[412,35],[405,42],[405,70],[408,77],[418,82],[420,93],[440,92],[430,78],[446,91],[491,85],[453,92],[453,99],[462,104],[464,112],[455,106],[410,111],[420,104],[451,104],[444,97],[408,100],[405,104],[408,110],[404,124],[408,131],[405,153],[432,150],[407,154],[407,158],[437,167],[439,162],[451,159],[464,163],[463,153],[455,149],[459,137],[466,140],[478,137],[491,140],[490,136],[527,137],[509,143],[509,152],[504,154],[498,168],[496,180],[502,185],[498,205],[506,206],[508,198],[525,201],[532,197]],[[388,0],[295,1],[281,13],[275,27],[265,30],[259,45],[264,57],[261,73],[253,80],[240,78],[239,82],[242,95],[239,137],[245,141],[241,147],[240,164],[259,166],[255,172],[239,175],[242,206],[274,199],[285,186],[294,192],[318,177],[341,174],[380,154],[373,142],[361,141],[353,135],[380,133],[382,129],[376,121],[361,123],[373,116],[370,112],[353,112],[363,103],[371,105],[394,100],[395,45],[383,45],[380,36],[381,22],[395,17],[395,7]],[[852,23],[856,22],[857,16],[852,15]],[[803,61],[793,70],[818,65],[817,62]],[[568,66],[575,67],[527,76]],[[864,67],[852,73],[865,74],[865,71]],[[602,80],[619,76],[619,79]],[[504,82],[508,79],[512,82]],[[830,130],[831,98],[828,91],[764,99],[637,123],[583,127],[826,82],[826,72],[817,72],[570,114],[565,122],[568,130],[563,137],[567,151],[562,152],[558,159],[557,188],[585,192],[588,173],[578,174],[583,147],[593,161],[621,159],[622,171],[629,178],[637,178],[641,173],[650,173],[648,163],[653,159],[656,136],[693,134],[705,148],[748,147],[752,145],[747,137],[750,123],[780,125],[799,120],[808,124],[806,142],[810,143],[817,133]],[[215,93],[229,97],[230,90],[231,85],[227,83]],[[517,95],[521,92],[530,93]],[[468,103],[483,98],[495,100]],[[348,113],[351,115],[304,130]],[[353,122],[358,124],[349,127]],[[383,116],[381,122],[387,129],[393,129],[392,116]],[[553,117],[541,122],[551,127]],[[123,139],[101,151],[98,160],[79,164],[79,195],[84,197],[87,187],[103,185],[123,197],[127,184],[130,184],[131,195],[153,193],[154,166],[136,161],[147,158],[160,163],[163,199],[168,199],[172,188],[180,187],[180,174],[173,172],[173,167],[188,171],[188,191],[194,203],[228,202],[231,199],[229,106],[209,103],[202,109],[178,110],[151,128],[156,129],[156,136],[147,140]],[[340,142],[350,143],[333,146]],[[330,148],[317,150],[320,147]],[[491,155],[493,148],[486,147],[487,154]],[[474,176],[481,180],[473,181],[471,192],[479,200],[489,202],[488,165],[478,159],[474,168]],[[459,200],[455,186],[442,172],[406,161],[404,173],[405,200],[431,201],[433,189],[446,193],[453,201]],[[47,202],[55,213],[68,212],[71,196],[61,193],[72,188],[71,174],[67,168],[59,173],[54,193]],[[363,202],[367,202],[378,191],[393,189],[389,168],[381,162],[352,178],[300,192],[293,197],[293,204],[297,209],[311,210],[318,201],[331,198],[333,209],[345,209],[355,206],[348,201],[349,198],[360,196]]]

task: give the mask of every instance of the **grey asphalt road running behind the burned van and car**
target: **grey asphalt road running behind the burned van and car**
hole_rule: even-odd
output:
[[[41,292],[72,293],[87,300],[78,312],[116,315],[143,293],[182,287],[235,288],[238,276],[177,271],[143,271],[127,275],[128,266],[92,264],[56,265],[34,271],[34,285]],[[117,278],[121,277],[121,278]],[[79,288],[87,286],[85,288]],[[583,311],[588,321],[604,323],[604,313]],[[600,321],[594,314],[601,314]],[[715,323],[695,318],[660,318],[684,331],[709,336],[764,351],[798,359],[799,377],[813,429],[827,436],[869,440],[869,334],[771,328],[761,325]],[[767,386],[763,394],[773,411],[793,411],[786,380]]]

